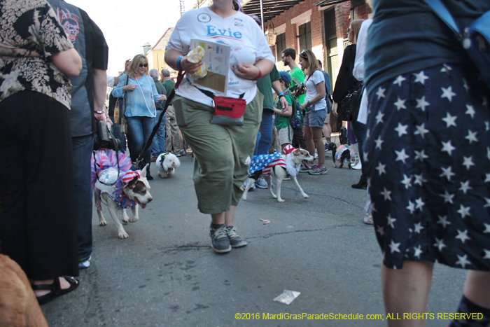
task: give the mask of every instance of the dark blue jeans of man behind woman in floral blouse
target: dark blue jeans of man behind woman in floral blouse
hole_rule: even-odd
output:
[[[72,137],[73,179],[75,182],[75,215],[78,235],[78,262],[92,254],[92,188],[91,163],[95,134]]]

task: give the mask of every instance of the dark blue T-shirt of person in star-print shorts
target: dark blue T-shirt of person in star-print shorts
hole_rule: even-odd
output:
[[[460,27],[490,10],[489,0],[442,0]],[[449,27],[423,0],[377,0],[367,34],[365,83],[371,92],[400,74],[469,61]]]

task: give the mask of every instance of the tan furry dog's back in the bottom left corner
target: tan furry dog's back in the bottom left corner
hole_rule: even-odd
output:
[[[22,268],[0,254],[0,326],[48,327]]]

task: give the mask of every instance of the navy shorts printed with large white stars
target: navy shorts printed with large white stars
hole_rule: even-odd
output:
[[[365,168],[384,265],[490,270],[490,92],[441,65],[372,90]]]

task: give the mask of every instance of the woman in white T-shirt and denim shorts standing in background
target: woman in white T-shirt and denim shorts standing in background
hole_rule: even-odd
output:
[[[304,72],[304,86],[307,96],[301,105],[306,109],[304,114],[303,137],[306,142],[307,150],[310,155],[318,153],[318,165],[305,165],[310,168],[307,172],[311,175],[321,175],[327,173],[325,167],[325,145],[321,137],[323,123],[327,116],[327,102],[325,102],[325,78],[318,69],[318,60],[311,50],[303,50],[300,53],[300,66]]]

